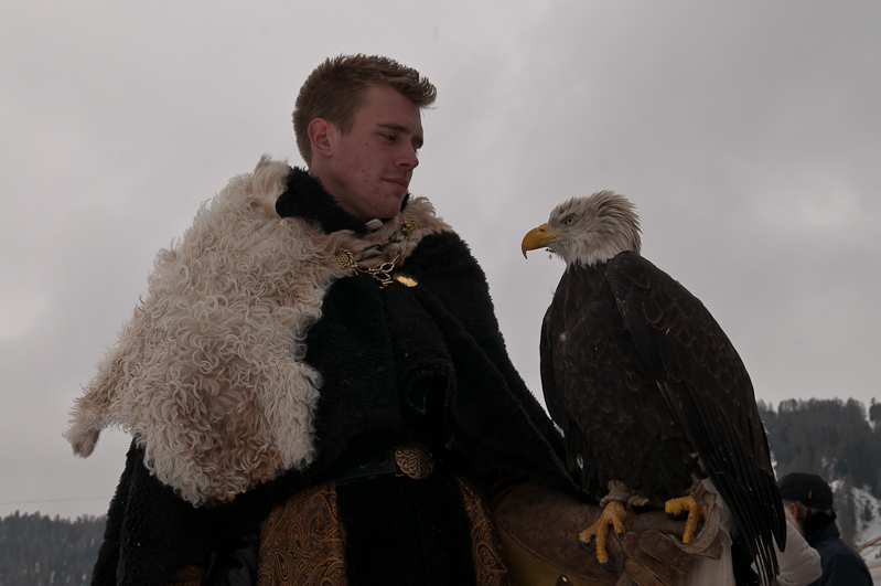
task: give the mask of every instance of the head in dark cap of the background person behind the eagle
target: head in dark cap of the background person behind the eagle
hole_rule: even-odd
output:
[[[780,482],[786,519],[802,533],[810,534],[830,521],[835,521],[832,489],[817,475],[792,472]]]

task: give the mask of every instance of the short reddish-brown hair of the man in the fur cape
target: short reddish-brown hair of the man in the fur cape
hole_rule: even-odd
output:
[[[388,57],[357,54],[327,58],[309,74],[293,109],[297,148],[307,164],[312,162],[310,122],[323,118],[341,132],[348,132],[364,93],[375,84],[399,92],[419,108],[430,107],[438,97],[437,88],[427,77]]]

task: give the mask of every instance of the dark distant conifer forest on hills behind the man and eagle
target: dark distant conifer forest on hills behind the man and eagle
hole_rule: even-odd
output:
[[[777,477],[814,472],[868,489],[881,499],[881,403],[789,399],[776,409],[759,402]],[[868,417],[867,417],[868,415]],[[839,526],[852,539],[856,518],[847,490],[836,493]],[[881,514],[881,511],[878,512]],[[0,586],[85,585],[104,533],[103,516],[75,521],[15,512],[0,520]]]

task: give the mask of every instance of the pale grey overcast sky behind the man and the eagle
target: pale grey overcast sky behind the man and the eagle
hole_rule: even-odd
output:
[[[523,235],[624,193],[756,398],[881,399],[881,3],[40,2],[0,8],[0,515],[103,514],[128,436],[67,411],[155,253],[260,155],[327,56],[439,89],[410,189],[471,244],[515,364],[562,273]]]

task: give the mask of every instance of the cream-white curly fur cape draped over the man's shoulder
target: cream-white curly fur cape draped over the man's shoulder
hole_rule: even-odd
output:
[[[334,251],[375,267],[450,228],[422,198],[365,237],[280,219],[289,171],[264,157],[160,251],[146,298],[75,401],[64,434],[74,454],[88,456],[101,429],[122,427],[151,473],[193,505],[310,465],[321,377],[301,359],[324,292],[351,274]],[[397,237],[405,220],[418,226],[406,241]]]

